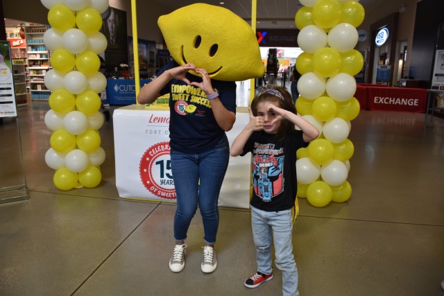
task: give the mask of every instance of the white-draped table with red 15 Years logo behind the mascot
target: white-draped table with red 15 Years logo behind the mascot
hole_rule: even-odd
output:
[[[112,120],[119,196],[176,202],[169,157],[169,110],[128,105],[114,110]],[[236,123],[227,132],[230,146],[249,120],[247,108],[238,107]],[[249,207],[250,158],[249,155],[230,157],[219,196],[220,206]]]

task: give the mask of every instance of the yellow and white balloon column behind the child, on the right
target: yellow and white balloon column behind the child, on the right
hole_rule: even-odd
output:
[[[355,76],[364,58],[355,50],[357,26],[364,21],[364,8],[357,1],[300,0],[296,12],[298,44],[302,49],[296,69],[300,97],[298,113],[321,132],[307,148],[298,150],[298,196],[315,207],[345,202],[352,194],[347,181],[351,123],[360,110],[354,97]]]

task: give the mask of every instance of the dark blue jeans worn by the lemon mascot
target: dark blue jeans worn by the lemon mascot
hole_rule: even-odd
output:
[[[204,241],[216,243],[219,227],[219,192],[228,167],[230,146],[223,137],[212,150],[203,153],[182,153],[171,150],[171,171],[176,188],[174,238],[185,241],[197,207],[203,220]]]

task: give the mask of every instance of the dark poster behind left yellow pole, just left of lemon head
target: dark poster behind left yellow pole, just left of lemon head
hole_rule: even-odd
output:
[[[140,78],[151,78],[155,75],[155,41],[137,40],[139,53],[139,75]],[[135,77],[134,72],[134,51],[133,37],[128,37],[128,61],[130,66],[130,76]]]

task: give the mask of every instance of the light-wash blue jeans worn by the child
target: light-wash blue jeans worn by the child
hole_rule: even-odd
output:
[[[256,246],[257,270],[269,275],[271,268],[271,238],[275,246],[275,265],[282,271],[282,295],[298,296],[298,268],[291,242],[293,216],[291,209],[262,211],[251,207],[251,225]]]

